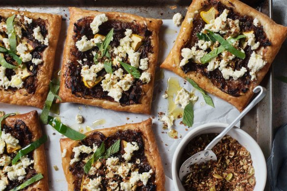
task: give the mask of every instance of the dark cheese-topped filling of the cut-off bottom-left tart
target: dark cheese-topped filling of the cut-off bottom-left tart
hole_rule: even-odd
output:
[[[22,120],[13,126],[2,125],[0,136],[0,191],[10,191],[37,174],[33,168],[33,152],[12,164],[17,152],[32,142],[32,133]]]

